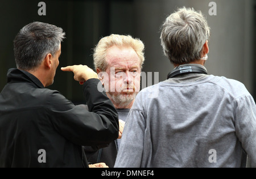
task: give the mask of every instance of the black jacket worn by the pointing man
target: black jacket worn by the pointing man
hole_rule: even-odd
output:
[[[0,93],[0,167],[88,167],[81,146],[108,146],[118,114],[100,80],[82,86],[89,112],[32,74],[10,69]],[[43,152],[42,152],[43,150]]]

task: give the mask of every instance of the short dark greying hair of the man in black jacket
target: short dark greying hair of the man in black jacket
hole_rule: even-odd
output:
[[[55,25],[33,22],[20,29],[14,39],[14,56],[18,69],[34,70],[48,53],[55,56],[65,32]]]

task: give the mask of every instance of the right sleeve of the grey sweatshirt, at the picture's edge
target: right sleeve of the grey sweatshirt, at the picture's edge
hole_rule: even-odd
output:
[[[256,106],[252,96],[237,99],[236,134],[249,157],[251,167],[256,167]]]

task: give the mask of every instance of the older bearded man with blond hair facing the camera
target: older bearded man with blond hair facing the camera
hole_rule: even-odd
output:
[[[144,62],[144,44],[131,36],[110,35],[102,38],[93,54],[94,66],[106,94],[117,109],[119,139],[98,150],[84,147],[89,163],[98,161],[114,167],[126,117],[140,90]]]

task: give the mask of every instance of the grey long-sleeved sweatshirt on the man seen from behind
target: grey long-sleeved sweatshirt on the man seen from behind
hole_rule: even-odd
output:
[[[115,167],[246,167],[247,155],[256,167],[256,106],[245,86],[185,74],[138,93]]]

